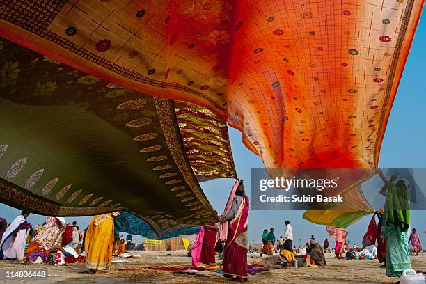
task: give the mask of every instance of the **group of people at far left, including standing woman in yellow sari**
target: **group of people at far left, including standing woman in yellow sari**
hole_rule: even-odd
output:
[[[62,217],[47,216],[45,223],[33,228],[22,211],[8,225],[0,218],[0,259],[47,262],[52,265],[85,262],[92,272],[109,269],[112,255],[126,253],[125,239],[118,236],[118,212],[97,215],[81,232],[77,222],[66,223]]]

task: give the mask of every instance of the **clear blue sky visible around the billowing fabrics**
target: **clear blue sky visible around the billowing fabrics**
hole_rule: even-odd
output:
[[[393,104],[392,112],[386,128],[381,156],[380,168],[426,168],[426,16],[423,13],[411,52],[402,75],[400,88]],[[230,128],[230,141],[239,178],[246,180],[246,191],[250,192],[251,168],[263,168],[260,157],[253,155],[241,142],[241,133]],[[203,182],[201,187],[217,212],[223,212],[233,180],[221,179]],[[379,190],[379,189],[378,189]],[[377,208],[374,208],[377,209]],[[19,210],[0,204],[0,216],[12,221],[19,214]],[[299,240],[304,244],[310,235],[317,240],[323,240],[326,235],[325,227],[309,223],[301,218],[301,211],[251,211],[248,223],[248,237],[250,242],[260,242],[262,230],[274,227],[277,237],[284,233],[284,221],[290,220],[294,230],[294,244]],[[420,232],[420,242],[426,244],[426,230],[423,215],[425,211],[411,212],[411,228]],[[90,217],[67,218],[67,221],[77,220],[83,227],[90,221]],[[33,224],[42,223],[44,217],[31,214],[29,221]],[[361,245],[361,239],[370,221],[366,216],[352,226],[349,226],[348,239],[352,244]]]

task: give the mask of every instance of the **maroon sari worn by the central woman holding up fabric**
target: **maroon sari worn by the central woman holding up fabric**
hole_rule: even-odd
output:
[[[223,249],[223,274],[247,277],[248,196],[243,196],[237,214],[229,221]]]

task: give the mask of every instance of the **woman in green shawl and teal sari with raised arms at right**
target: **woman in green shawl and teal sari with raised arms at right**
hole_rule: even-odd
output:
[[[381,223],[381,235],[386,238],[386,275],[401,277],[405,269],[411,269],[408,248],[410,184],[404,179],[394,184],[387,181],[381,171],[379,175],[388,185]]]

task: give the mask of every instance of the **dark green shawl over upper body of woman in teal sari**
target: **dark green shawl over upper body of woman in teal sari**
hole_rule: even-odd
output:
[[[393,182],[388,182],[388,193],[386,194],[385,212],[383,218],[383,226],[387,228],[390,224],[401,228],[402,232],[407,232],[410,226],[410,210],[409,210],[409,188],[407,180],[407,189],[397,187]],[[382,230],[382,234],[386,234]]]

